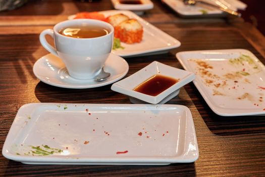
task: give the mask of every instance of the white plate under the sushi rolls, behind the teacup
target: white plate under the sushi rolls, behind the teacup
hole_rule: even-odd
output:
[[[133,12],[111,10],[101,11],[100,13],[104,14],[105,17],[122,13],[127,15],[129,18],[138,20],[138,22],[143,26],[143,39],[141,42],[133,44],[121,42],[124,49],[112,50],[113,54],[121,57],[163,54],[181,45],[180,41],[151,25]],[[73,19],[74,16],[69,16],[68,18]]]

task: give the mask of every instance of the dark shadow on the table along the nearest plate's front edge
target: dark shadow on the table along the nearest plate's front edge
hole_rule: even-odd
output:
[[[170,165],[29,165],[10,160],[4,176],[196,176],[194,163]]]

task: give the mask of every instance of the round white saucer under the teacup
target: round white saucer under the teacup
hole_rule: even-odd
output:
[[[128,63],[115,54],[110,54],[104,66],[104,71],[111,73],[111,77],[101,82],[71,77],[63,61],[52,54],[41,57],[33,66],[33,73],[42,82],[68,89],[88,89],[108,85],[123,78],[128,70]]]

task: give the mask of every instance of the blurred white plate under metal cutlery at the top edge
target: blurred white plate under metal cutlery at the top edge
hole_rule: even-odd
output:
[[[207,1],[207,0],[205,0]],[[187,6],[183,3],[182,0],[162,0],[162,2],[166,3],[170,8],[176,11],[178,14],[184,17],[192,17],[192,16],[224,16],[226,15],[222,11],[212,8],[203,4],[196,4],[195,6]],[[210,2],[210,0],[208,0]],[[230,5],[230,9],[236,11],[237,9],[244,10],[246,8],[246,4],[237,1],[237,0],[226,0],[226,5]]]

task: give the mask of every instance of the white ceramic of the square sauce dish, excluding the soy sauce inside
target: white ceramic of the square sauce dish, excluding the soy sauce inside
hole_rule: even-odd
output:
[[[157,96],[150,96],[133,90],[136,86],[143,83],[155,74],[161,74],[171,78],[179,79],[179,81]],[[114,83],[111,89],[147,103],[158,104],[160,102],[165,103],[165,101],[169,101],[169,99],[173,98],[172,96],[175,97],[176,94],[179,93],[178,90],[185,84],[191,82],[194,78],[195,75],[192,72],[154,61],[131,76]]]

